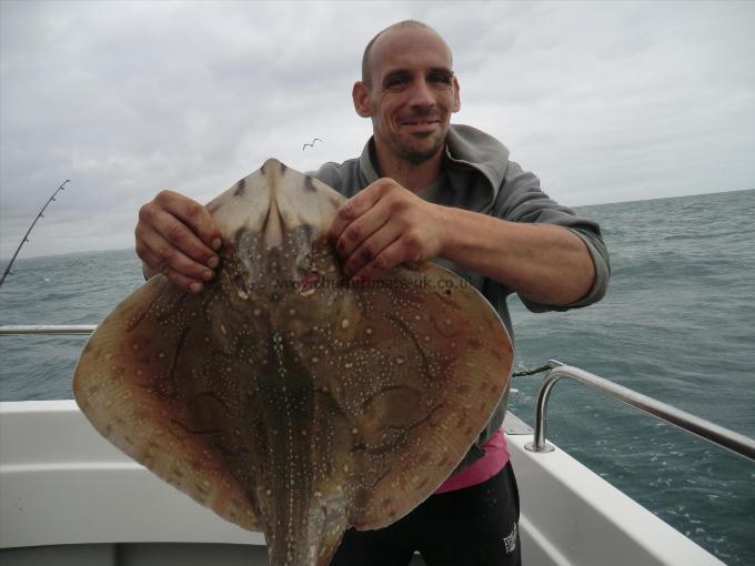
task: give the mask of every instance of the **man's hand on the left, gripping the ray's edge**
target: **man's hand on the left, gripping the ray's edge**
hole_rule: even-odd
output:
[[[222,239],[214,220],[197,201],[161,191],[139,210],[137,255],[145,277],[162,273],[189,293],[214,277]]]

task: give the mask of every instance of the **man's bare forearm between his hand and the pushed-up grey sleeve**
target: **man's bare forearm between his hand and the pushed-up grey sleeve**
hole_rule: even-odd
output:
[[[595,267],[584,242],[563,226],[506,222],[461,209],[442,211],[449,226],[441,255],[537,303],[584,297]]]

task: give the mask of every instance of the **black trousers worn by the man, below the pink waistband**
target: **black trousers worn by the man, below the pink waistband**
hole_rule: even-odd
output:
[[[349,529],[331,566],[521,566],[519,489],[511,463],[482,484],[431,495],[379,530]]]

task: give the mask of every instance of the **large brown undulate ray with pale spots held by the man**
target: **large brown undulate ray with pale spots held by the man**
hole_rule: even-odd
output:
[[[221,265],[200,295],[152,277],[99,325],[73,393],[94,427],[273,566],[325,566],[350,526],[399,519],[490,418],[512,345],[432,264],[344,284],[324,233],[343,198],[269,160],[208,209]]]

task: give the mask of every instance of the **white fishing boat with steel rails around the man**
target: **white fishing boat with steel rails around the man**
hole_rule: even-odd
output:
[[[93,326],[3,326],[0,334],[88,334]],[[545,441],[562,378],[755,461],[755,441],[597,375],[552,361],[534,429],[513,413],[504,432],[521,493],[527,566],[723,564]],[[0,403],[3,566],[265,565],[265,542],[197,505],[101,437],[72,400]],[[417,555],[412,566],[424,564]],[[471,565],[474,566],[474,565]]]

